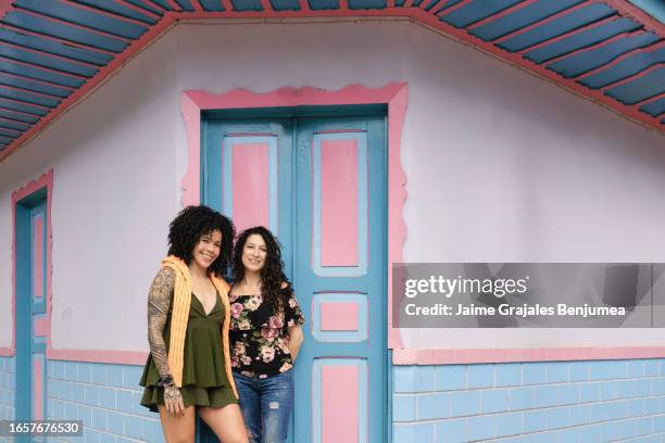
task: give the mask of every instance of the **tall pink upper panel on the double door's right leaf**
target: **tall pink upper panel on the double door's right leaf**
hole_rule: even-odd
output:
[[[321,265],[357,266],[357,142],[321,142]]]

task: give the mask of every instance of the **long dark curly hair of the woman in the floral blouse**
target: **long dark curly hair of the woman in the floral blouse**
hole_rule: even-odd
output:
[[[234,282],[239,283],[244,277],[244,265],[242,265],[242,250],[244,243],[251,235],[259,235],[265,241],[266,256],[265,266],[261,269],[261,295],[266,301],[274,313],[279,312],[283,306],[281,284],[290,286],[289,280],[284,274],[284,262],[281,261],[281,251],[279,242],[273,233],[263,226],[256,226],[243,230],[238,237],[236,248],[234,249]]]

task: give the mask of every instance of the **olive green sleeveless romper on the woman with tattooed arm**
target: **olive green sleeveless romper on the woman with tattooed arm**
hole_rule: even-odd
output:
[[[183,355],[183,388],[180,388],[185,407],[190,405],[224,407],[238,403],[226,376],[222,347],[221,330],[226,313],[218,294],[213,309],[205,315],[199,299],[191,294]],[[163,332],[166,350],[171,338],[172,314],[173,306],[168,309]],[[164,404],[164,389],[156,387],[159,379],[160,374],[150,354],[139,384],[145,387],[141,405],[154,413],[158,412],[158,404]]]

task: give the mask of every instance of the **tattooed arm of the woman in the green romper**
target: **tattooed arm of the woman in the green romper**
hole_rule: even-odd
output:
[[[175,271],[170,267],[163,267],[152,281],[148,295],[148,342],[150,343],[152,360],[158,372],[160,372],[160,377],[171,374],[168,355],[162,334],[168,317],[174,286]]]

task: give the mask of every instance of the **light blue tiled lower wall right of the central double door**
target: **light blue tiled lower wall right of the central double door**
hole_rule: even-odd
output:
[[[665,359],[393,368],[393,443],[665,442]]]

